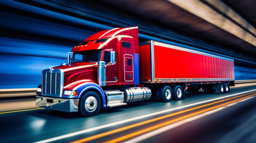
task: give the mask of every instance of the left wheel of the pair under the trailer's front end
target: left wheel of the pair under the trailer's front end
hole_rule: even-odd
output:
[[[163,86],[159,90],[159,98],[162,102],[170,102],[173,98],[173,92],[170,86]]]

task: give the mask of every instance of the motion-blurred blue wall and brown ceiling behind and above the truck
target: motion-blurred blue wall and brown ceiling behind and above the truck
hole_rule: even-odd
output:
[[[1,0],[0,89],[36,88],[88,36],[139,26],[139,41],[234,59],[235,79],[256,79],[254,0]],[[175,70],[175,69],[173,69]]]

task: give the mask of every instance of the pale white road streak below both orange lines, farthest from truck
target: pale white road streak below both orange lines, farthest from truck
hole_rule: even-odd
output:
[[[146,133],[146,134],[143,134],[143,135],[141,135],[141,136],[138,136],[138,137],[136,137],[136,138],[134,138],[134,139],[130,139],[130,140],[128,140],[128,141],[125,141],[125,142],[123,142],[123,143],[138,143],[139,141],[143,141],[143,140],[148,139],[148,138],[150,138],[150,137],[152,137],[152,136],[156,136],[157,134],[161,134],[161,133],[163,133],[163,132],[167,132],[168,130],[171,130],[171,129],[173,129],[173,128],[176,128],[176,127],[178,127],[178,126],[180,126],[180,125],[183,125],[183,124],[185,124],[185,123],[189,123],[189,122],[191,122],[191,121],[195,121],[195,120],[200,119],[200,118],[202,118],[202,117],[205,117],[205,116],[207,116],[207,115],[209,115],[209,114],[213,114],[213,113],[215,113],[215,112],[218,112],[218,111],[223,110],[223,109],[225,109],[225,108],[227,108],[227,107],[233,106],[233,105],[235,105],[235,104],[237,104],[237,103],[239,103],[239,102],[243,102],[243,101],[249,100],[249,99],[251,99],[251,98],[253,98],[253,97],[248,97],[248,98],[246,98],[246,99],[243,99],[243,100],[240,100],[240,101],[236,101],[236,102],[231,103],[231,104],[228,104],[228,105],[226,105],[226,106],[222,106],[222,107],[216,108],[216,109],[214,109],[214,110],[211,110],[211,111],[208,111],[208,112],[204,112],[204,113],[202,113],[202,114],[199,114],[199,115],[190,117],[190,118],[188,118],[188,119],[184,119],[184,120],[178,121],[178,122],[176,122],[176,123],[172,123],[172,124],[170,124],[170,125],[167,125],[167,126],[165,126],[165,127],[159,128],[159,129],[154,130],[154,131],[152,131],[152,132],[148,132],[148,133]]]

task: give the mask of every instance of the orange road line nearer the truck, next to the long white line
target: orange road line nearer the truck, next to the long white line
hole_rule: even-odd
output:
[[[247,94],[245,94],[245,95],[248,95],[248,94],[251,94],[251,93],[247,93]],[[155,119],[150,119],[150,120],[148,120],[148,121],[143,121],[143,122],[136,123],[136,124],[133,124],[133,125],[129,125],[129,126],[126,126],[126,127],[123,127],[123,128],[119,128],[119,129],[116,129],[116,130],[112,130],[112,131],[109,131],[109,132],[104,132],[104,133],[101,133],[101,134],[97,134],[97,135],[94,135],[94,136],[90,136],[90,137],[88,137],[88,138],[84,138],[84,139],[81,139],[81,140],[78,140],[78,141],[74,141],[74,142],[72,142],[72,143],[83,143],[83,142],[86,142],[86,141],[91,141],[91,140],[94,140],[94,139],[101,138],[101,137],[103,137],[103,136],[108,136],[108,135],[110,135],[110,134],[115,134],[115,133],[117,133],[117,132],[121,132],[121,131],[124,131],[124,130],[128,130],[128,129],[131,129],[131,128],[135,128],[135,127],[138,127],[138,126],[140,126],[140,125],[144,125],[144,124],[151,123],[151,122],[154,122],[154,121],[158,121],[158,120],[161,120],[161,119],[165,119],[165,118],[168,118],[168,117],[171,117],[171,116],[175,116],[175,115],[177,115],[177,114],[182,114],[182,113],[185,113],[185,112],[189,112],[189,111],[191,111],[191,110],[203,108],[203,107],[206,107],[206,106],[210,106],[210,105],[213,105],[213,104],[216,104],[216,103],[220,103],[220,102],[223,102],[223,101],[227,101],[227,100],[234,99],[234,98],[238,98],[238,97],[245,96],[245,95],[239,95],[239,96],[232,97],[232,98],[229,98],[229,99],[224,99],[224,100],[221,100],[221,101],[216,101],[216,102],[208,103],[208,104],[205,104],[205,105],[202,105],[202,106],[198,106],[198,107],[190,108],[190,109],[187,109],[187,110],[175,112],[175,113],[168,114],[168,115],[165,115],[165,116],[162,116],[162,117],[157,117],[157,118],[155,118]],[[254,94],[254,95],[256,95],[256,94]],[[236,100],[239,100],[239,99],[236,99]],[[222,104],[221,104],[221,105],[222,105]],[[179,119],[179,118],[178,118],[178,119]]]

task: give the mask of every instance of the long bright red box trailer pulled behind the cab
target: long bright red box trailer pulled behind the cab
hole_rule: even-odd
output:
[[[140,83],[157,86],[157,96],[161,94],[158,86],[165,84],[216,93],[229,92],[229,86],[234,86],[233,59],[155,41],[139,45]]]

